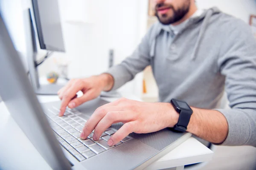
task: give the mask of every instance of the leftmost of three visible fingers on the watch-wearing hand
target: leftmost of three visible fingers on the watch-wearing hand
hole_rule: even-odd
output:
[[[87,136],[92,133],[93,129],[99,123],[99,121],[110,111],[120,111],[122,108],[120,107],[108,107],[108,108],[101,108],[96,109],[96,111],[92,114],[90,119],[85,123],[83,131],[80,135],[81,139],[87,138]]]

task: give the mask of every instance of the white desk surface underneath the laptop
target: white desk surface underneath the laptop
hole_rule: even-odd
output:
[[[128,99],[137,99],[122,94]],[[57,96],[38,96],[40,102],[58,100]],[[114,98],[104,98],[108,101]],[[0,103],[0,169],[6,170],[51,170],[23,131],[12,119],[3,102]],[[180,144],[158,161],[149,165],[147,170],[171,168],[182,170],[184,165],[209,161],[213,152],[193,137]],[[177,167],[177,168],[175,168]]]

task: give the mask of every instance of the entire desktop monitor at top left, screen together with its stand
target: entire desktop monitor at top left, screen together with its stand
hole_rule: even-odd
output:
[[[39,83],[36,37],[41,49],[65,51],[58,0],[32,0],[32,6],[24,16],[30,80],[36,94],[56,95],[64,85]]]

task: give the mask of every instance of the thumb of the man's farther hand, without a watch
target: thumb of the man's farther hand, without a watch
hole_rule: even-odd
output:
[[[97,96],[93,92],[94,92],[93,90],[89,90],[86,93],[84,93],[83,96],[72,99],[68,103],[68,107],[69,108],[76,108],[77,106],[83,104],[84,102],[95,99]]]

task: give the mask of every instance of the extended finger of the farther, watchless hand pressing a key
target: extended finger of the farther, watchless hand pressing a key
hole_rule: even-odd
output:
[[[59,116],[63,116],[66,107],[70,100],[76,95],[78,91],[80,91],[82,88],[82,85],[76,85],[75,83],[65,92],[62,100],[61,100],[61,108]]]

